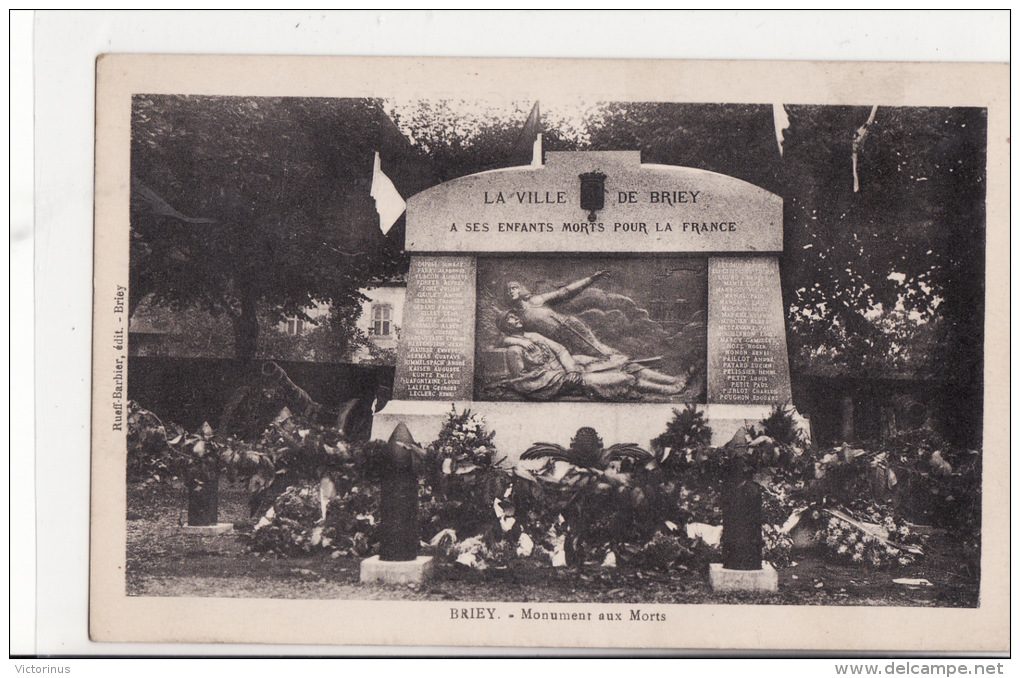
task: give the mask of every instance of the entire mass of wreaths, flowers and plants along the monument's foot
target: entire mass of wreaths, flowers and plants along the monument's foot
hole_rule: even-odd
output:
[[[758,435],[760,429],[781,439],[789,432],[781,420],[775,423],[777,412],[784,414],[773,411],[744,445],[736,436],[728,447],[691,449],[680,470],[662,463],[665,447],[656,455],[627,445],[606,449],[589,428],[566,449],[532,446],[528,459],[511,467],[480,416],[451,409],[437,439],[416,456],[422,464],[422,540],[442,560],[478,570],[515,558],[547,559],[554,566],[697,570],[719,554],[711,539],[707,543],[687,527],[721,522],[719,493],[734,459],[755,465],[763,487],[763,557],[776,567],[790,563],[795,516],[817,526],[812,529],[829,557],[867,568],[902,567],[923,555],[924,537],[905,518],[941,516],[942,524],[961,531],[965,545],[970,535],[979,538],[976,454],[954,450],[926,430],[871,451],[844,446],[758,454],[756,448],[794,449]],[[382,470],[375,466],[388,444],[352,446],[336,429],[294,416],[279,417],[255,446],[218,436],[207,424],[196,433],[171,428],[169,439],[166,430],[130,404],[135,477],[166,469],[198,483],[222,472],[248,478],[253,496],[268,506],[253,533],[255,551],[360,558],[376,547],[375,486]],[[925,513],[933,502],[937,514]],[[951,518],[948,507],[963,515]]]

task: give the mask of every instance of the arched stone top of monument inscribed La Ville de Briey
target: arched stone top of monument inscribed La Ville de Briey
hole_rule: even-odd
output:
[[[441,184],[407,201],[410,252],[736,253],[782,249],[782,199],[732,176],[644,164],[640,151]]]

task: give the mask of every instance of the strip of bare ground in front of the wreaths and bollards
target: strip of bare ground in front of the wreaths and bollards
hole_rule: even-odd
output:
[[[128,491],[126,581],[129,595],[547,603],[656,603],[974,607],[977,577],[962,566],[959,550],[942,532],[932,534],[926,559],[907,567],[866,571],[798,553],[779,570],[775,594],[718,594],[704,572],[655,573],[625,567],[552,568],[534,560],[474,571],[442,565],[420,587],[366,585],[360,561],[263,556],[251,547],[252,521],[243,488],[223,483],[219,519],[233,533],[182,533],[180,486]],[[898,578],[927,579],[908,586]]]

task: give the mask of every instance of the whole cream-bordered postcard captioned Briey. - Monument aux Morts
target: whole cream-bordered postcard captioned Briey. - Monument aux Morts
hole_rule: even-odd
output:
[[[1008,72],[100,57],[91,637],[1008,650]]]

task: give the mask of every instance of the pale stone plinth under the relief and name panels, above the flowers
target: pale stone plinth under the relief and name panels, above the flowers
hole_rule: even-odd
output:
[[[450,402],[390,401],[372,420],[372,438],[389,439],[397,422],[403,421],[421,446],[439,435],[450,412]],[[536,442],[556,442],[564,447],[581,426],[592,426],[607,446],[636,442],[649,448],[652,438],[666,430],[673,410],[682,403],[491,403],[459,401],[457,412],[470,409],[486,418],[496,431],[496,446],[509,461]],[[729,441],[738,428],[758,424],[772,412],[771,405],[701,405],[712,428],[712,445]],[[808,420],[794,413],[795,420],[809,431]]]

